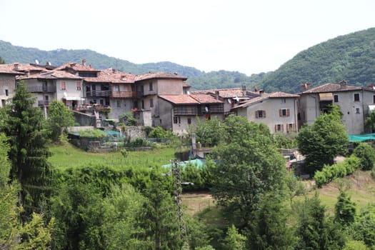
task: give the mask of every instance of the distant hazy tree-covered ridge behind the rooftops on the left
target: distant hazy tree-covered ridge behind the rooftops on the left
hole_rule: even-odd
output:
[[[205,73],[194,67],[182,66],[169,61],[134,64],[130,61],[99,54],[89,49],[56,49],[53,51],[43,51],[40,49],[14,46],[9,42],[1,40],[0,57],[4,59],[6,63],[14,63],[17,61],[24,64],[34,64],[37,60],[40,64],[46,64],[46,62],[49,61],[54,66],[59,66],[68,61],[81,63],[82,59],[86,59],[87,63],[91,64],[91,66],[96,69],[108,69],[111,67],[132,74],[146,74],[149,73],[149,71],[176,72],[182,76],[187,76],[189,78],[188,82],[193,89],[207,89],[208,86],[206,83],[209,83],[209,88],[213,89],[241,85],[249,86],[251,82],[259,82],[259,77],[255,74],[253,76],[246,76],[245,74],[232,71],[211,71]],[[264,74],[261,75],[263,76]]]

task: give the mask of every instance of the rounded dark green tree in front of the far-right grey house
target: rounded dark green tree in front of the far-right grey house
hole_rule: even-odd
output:
[[[333,164],[334,157],[348,151],[348,136],[341,123],[341,111],[331,106],[329,114],[321,114],[314,124],[304,126],[297,136],[298,148],[306,156],[307,171],[313,174],[324,164]]]

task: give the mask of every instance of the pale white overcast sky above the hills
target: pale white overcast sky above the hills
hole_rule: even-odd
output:
[[[250,76],[375,27],[374,11],[374,0],[0,0],[0,40]]]

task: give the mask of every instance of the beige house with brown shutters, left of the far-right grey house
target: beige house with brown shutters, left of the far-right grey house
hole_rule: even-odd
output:
[[[271,133],[296,133],[298,128],[299,95],[284,92],[264,93],[232,108],[238,116],[248,121],[266,124]]]

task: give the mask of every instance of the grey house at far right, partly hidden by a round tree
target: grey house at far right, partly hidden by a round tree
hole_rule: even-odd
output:
[[[373,86],[349,86],[346,81],[339,84],[324,84],[309,89],[310,84],[303,84],[299,99],[301,125],[312,124],[316,117],[327,111],[327,106],[336,104],[343,114],[343,121],[348,134],[363,134],[364,121],[375,106]]]

